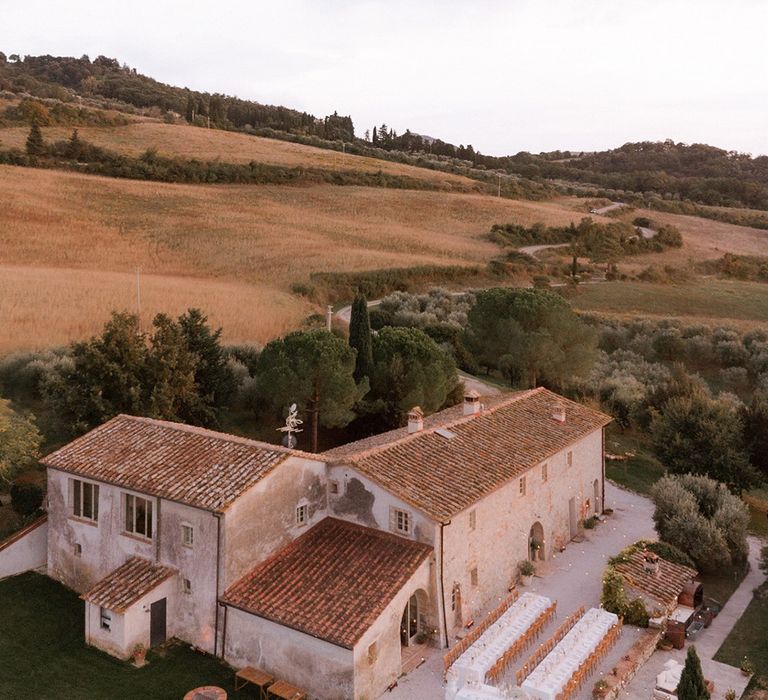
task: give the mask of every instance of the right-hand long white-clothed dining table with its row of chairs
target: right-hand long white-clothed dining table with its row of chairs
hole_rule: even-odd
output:
[[[538,700],[568,700],[592,674],[621,634],[622,621],[598,608],[588,610],[523,682]]]

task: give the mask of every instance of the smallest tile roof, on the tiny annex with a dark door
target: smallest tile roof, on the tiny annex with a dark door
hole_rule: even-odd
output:
[[[131,557],[80,597],[107,610],[123,613],[175,573],[176,570],[170,567]]]

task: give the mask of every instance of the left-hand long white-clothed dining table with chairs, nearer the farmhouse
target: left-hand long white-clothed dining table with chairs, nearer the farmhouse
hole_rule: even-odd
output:
[[[451,665],[446,697],[458,697],[465,687],[480,689],[497,680],[510,663],[530,646],[557,611],[557,603],[524,593],[476,638]],[[490,616],[489,616],[490,617]],[[460,697],[467,697],[466,693]]]

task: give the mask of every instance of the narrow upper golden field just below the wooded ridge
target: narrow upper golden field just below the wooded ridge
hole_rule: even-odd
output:
[[[47,141],[59,141],[70,137],[72,127],[44,127],[42,132]],[[226,163],[248,163],[254,160],[272,165],[315,167],[325,170],[373,173],[382,171],[390,175],[407,175],[428,182],[453,183],[462,187],[477,186],[474,180],[450,173],[390,163],[376,158],[345,155],[288,141],[195,126],[137,121],[128,126],[78,127],[78,133],[81,138],[90,143],[130,156],[138,156],[148,148],[156,148],[160,155],[165,156],[199,160],[218,158]],[[26,126],[0,129],[0,145],[3,148],[23,148],[28,134],[29,128]]]

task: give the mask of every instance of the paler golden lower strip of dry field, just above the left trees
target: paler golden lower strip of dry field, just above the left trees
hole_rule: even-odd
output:
[[[98,332],[113,310],[137,309],[136,275],[67,268],[0,266],[0,354],[63,345]],[[228,343],[266,342],[310,313],[269,287],[195,277],[141,275],[142,324],[158,311],[205,309]],[[10,331],[10,332],[8,332]]]

